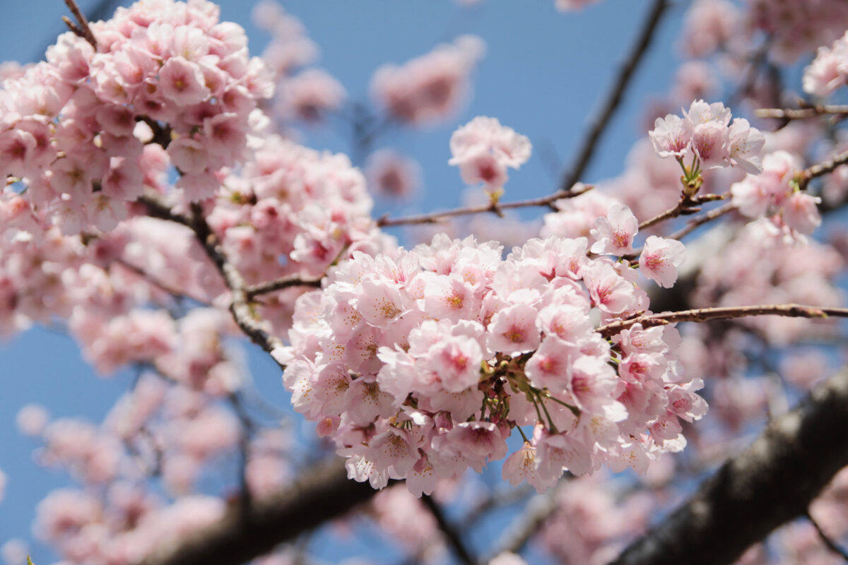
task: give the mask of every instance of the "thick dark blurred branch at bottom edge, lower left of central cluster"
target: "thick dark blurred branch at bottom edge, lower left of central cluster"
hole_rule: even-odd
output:
[[[377,492],[368,483],[349,480],[338,459],[301,477],[250,507],[233,503],[219,522],[157,548],[141,565],[239,565],[341,517]]]

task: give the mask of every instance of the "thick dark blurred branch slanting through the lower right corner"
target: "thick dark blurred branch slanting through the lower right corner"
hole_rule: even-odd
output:
[[[634,542],[614,565],[719,565],[793,518],[803,516],[848,465],[848,370],[773,420],[695,496]]]

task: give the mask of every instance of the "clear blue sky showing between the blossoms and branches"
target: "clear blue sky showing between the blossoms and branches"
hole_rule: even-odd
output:
[[[97,0],[84,0],[84,10]],[[533,141],[533,158],[510,174],[505,199],[542,196],[555,190],[555,177],[539,157],[546,146],[569,163],[589,115],[604,96],[618,64],[633,42],[646,0],[602,0],[582,13],[561,14],[554,0],[485,0],[462,8],[450,0],[290,0],[283,3],[304,22],[321,47],[318,66],[327,69],[354,99],[367,102],[371,73],[379,64],[403,63],[427,53],[436,43],[465,33],[487,42],[471,101],[458,118],[427,130],[394,131],[377,142],[399,147],[424,170],[427,193],[416,202],[421,211],[460,202],[459,174],[447,164],[449,136],[476,115],[500,119]],[[250,21],[249,0],[222,2],[222,18],[248,30],[252,53],[268,36]],[[667,14],[649,57],[639,69],[619,114],[607,131],[597,158],[583,180],[615,176],[639,131],[639,111],[651,97],[662,96],[679,61],[676,37],[683,5]],[[63,31],[61,0],[3,3],[6,22],[0,35],[0,59],[33,61]],[[349,150],[346,136],[332,131],[307,133],[312,147]],[[280,375],[272,363],[251,357],[254,379],[275,402],[286,402]],[[64,475],[31,463],[33,444],[14,429],[14,415],[26,402],[38,402],[54,417],[86,416],[100,421],[130,377],[99,379],[81,360],[69,338],[31,330],[0,344],[0,468],[8,474],[6,499],[0,503],[0,544],[11,537],[30,538],[37,501],[66,484]],[[36,562],[53,557],[33,546]]]

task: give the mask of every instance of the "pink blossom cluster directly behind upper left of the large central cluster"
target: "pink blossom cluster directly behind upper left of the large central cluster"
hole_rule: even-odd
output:
[[[345,155],[269,135],[223,185],[209,225],[248,284],[320,277],[354,251],[374,254],[395,245],[377,229],[365,176]],[[276,332],[288,329],[302,288],[264,297],[261,313]]]

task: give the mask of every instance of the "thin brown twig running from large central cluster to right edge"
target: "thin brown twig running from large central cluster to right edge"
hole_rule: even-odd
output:
[[[694,310],[647,314],[636,318],[618,320],[602,325],[595,331],[604,337],[610,337],[622,330],[627,330],[633,324],[642,324],[643,328],[651,328],[677,322],[706,322],[714,319],[747,318],[749,316],[785,316],[788,318],[828,318],[828,316],[835,316],[848,318],[848,308],[801,306],[799,304],[695,308]]]

